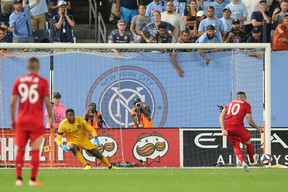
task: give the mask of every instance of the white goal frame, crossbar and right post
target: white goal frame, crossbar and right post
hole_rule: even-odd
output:
[[[271,47],[270,43],[169,43],[169,44],[104,44],[104,43],[1,43],[0,49],[264,49],[264,153],[271,154]],[[51,74],[50,74],[51,75]],[[52,74],[53,78],[53,74]],[[268,142],[267,142],[268,141]]]

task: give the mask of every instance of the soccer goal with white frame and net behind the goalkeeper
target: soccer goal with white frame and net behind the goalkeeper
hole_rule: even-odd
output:
[[[90,102],[97,104],[105,121],[104,128],[97,130],[98,149],[111,162],[148,166],[149,159],[156,162],[173,151],[171,156],[177,156],[179,164],[166,158],[162,161],[167,161],[165,166],[235,164],[231,146],[221,136],[218,118],[221,106],[234,100],[240,90],[247,94],[256,124],[265,127],[262,135],[251,130],[256,153],[271,154],[269,44],[43,43],[1,44],[0,49],[0,164],[13,164],[15,159],[9,129],[11,89],[14,80],[26,73],[30,57],[40,59],[40,75],[49,79],[51,93],[60,92],[61,102],[73,108],[77,116],[83,116]],[[172,64],[172,51],[177,52],[175,60],[184,73]],[[130,110],[135,98],[150,107],[153,129],[133,129]],[[139,143],[147,135],[165,139],[166,133],[173,133],[174,141],[165,141],[164,148],[155,147],[153,141],[155,146],[140,150]],[[159,152],[157,157],[153,156],[155,151]],[[83,156],[103,166],[85,151]],[[25,162],[29,160],[28,150]],[[81,166],[72,153],[56,146],[55,133],[49,129],[40,160],[42,167]]]

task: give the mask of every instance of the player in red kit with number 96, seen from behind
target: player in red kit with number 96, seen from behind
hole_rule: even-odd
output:
[[[31,141],[31,179],[29,185],[41,185],[36,180],[39,168],[39,149],[43,140],[44,114],[43,102],[46,104],[52,123],[52,106],[49,101],[49,86],[46,79],[38,75],[40,69],[39,60],[32,57],[28,61],[28,74],[16,79],[13,85],[10,116],[11,129],[15,130],[15,145],[17,148],[15,167],[16,185],[22,185],[22,168],[24,164],[25,146],[28,139]],[[17,120],[15,120],[16,103],[19,98]]]

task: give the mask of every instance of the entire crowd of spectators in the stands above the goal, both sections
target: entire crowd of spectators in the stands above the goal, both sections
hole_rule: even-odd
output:
[[[265,42],[288,50],[287,0],[114,2],[119,20],[109,43],[175,43],[188,34],[189,43]],[[0,42],[73,43],[71,7],[69,0],[1,0]]]

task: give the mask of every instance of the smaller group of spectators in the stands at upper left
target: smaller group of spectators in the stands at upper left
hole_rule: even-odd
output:
[[[73,43],[74,26],[69,0],[1,0],[1,43]]]

